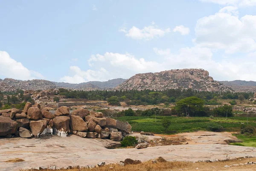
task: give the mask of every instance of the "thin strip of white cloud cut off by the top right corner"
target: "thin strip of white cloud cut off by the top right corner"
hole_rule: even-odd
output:
[[[201,2],[217,3],[220,5],[233,5],[241,7],[256,6],[256,0],[200,0]]]

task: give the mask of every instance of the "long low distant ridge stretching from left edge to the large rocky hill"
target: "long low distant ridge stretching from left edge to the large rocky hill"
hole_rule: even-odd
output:
[[[105,90],[116,87],[121,84],[125,79],[116,78],[108,81],[89,81],[80,84],[70,84],[64,82],[54,82],[47,80],[15,80],[12,78],[0,79],[0,91],[15,91],[20,90],[49,90],[56,88],[67,88],[76,90]]]

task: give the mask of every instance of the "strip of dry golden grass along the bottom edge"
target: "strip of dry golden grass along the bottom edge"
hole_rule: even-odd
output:
[[[230,168],[224,168],[224,165],[233,165],[239,163],[245,163],[250,161],[256,161],[256,158],[236,159],[221,162],[168,162],[162,157],[158,157],[159,160],[156,164],[152,163],[151,160],[142,162],[136,165],[125,165],[119,164],[105,165],[103,167],[96,168],[80,168],[80,169],[61,169],[59,171],[178,171],[179,169],[187,171],[256,171],[255,165],[243,165],[243,166],[232,166]],[[46,170],[52,171],[52,170]]]

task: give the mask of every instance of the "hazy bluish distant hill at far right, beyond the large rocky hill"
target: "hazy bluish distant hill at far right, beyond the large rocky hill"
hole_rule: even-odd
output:
[[[256,81],[219,81],[225,86],[231,87],[236,92],[256,92]]]

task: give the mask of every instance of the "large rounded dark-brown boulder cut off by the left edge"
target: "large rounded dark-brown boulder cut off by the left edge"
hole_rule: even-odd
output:
[[[18,124],[9,117],[0,117],[0,136],[15,133],[18,129]]]

